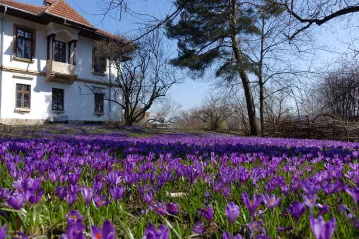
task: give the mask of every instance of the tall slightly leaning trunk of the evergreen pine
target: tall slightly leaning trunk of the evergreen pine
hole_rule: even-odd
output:
[[[230,17],[231,18],[230,27],[231,27],[231,35],[232,35],[232,48],[234,52],[235,62],[238,67],[238,72],[240,73],[240,77],[242,79],[244,94],[246,96],[250,135],[257,136],[260,135],[260,128],[258,125],[257,115],[255,113],[252,88],[249,82],[247,71],[243,66],[244,62],[243,62],[242,51],[238,43],[237,32],[236,32],[237,0],[231,0],[231,1],[232,1],[232,12]]]

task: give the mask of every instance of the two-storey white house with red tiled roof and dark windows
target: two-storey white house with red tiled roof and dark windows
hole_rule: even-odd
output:
[[[42,0],[34,0],[42,1]],[[96,40],[116,37],[93,27],[64,0],[43,6],[0,0],[2,124],[91,123],[121,118],[116,71],[93,57]]]

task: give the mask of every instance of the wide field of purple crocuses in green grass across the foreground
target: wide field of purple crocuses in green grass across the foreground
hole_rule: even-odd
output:
[[[0,138],[3,238],[358,238],[359,144]]]

